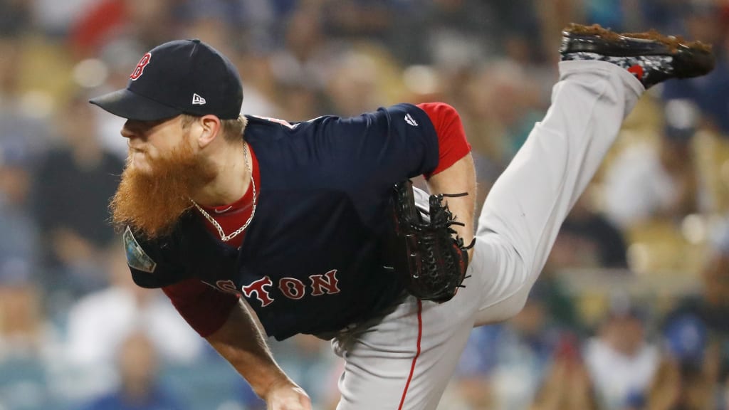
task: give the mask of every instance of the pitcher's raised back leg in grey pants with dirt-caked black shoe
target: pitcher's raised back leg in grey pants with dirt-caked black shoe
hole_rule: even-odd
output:
[[[552,106],[499,177],[480,214],[471,283],[476,325],[523,307],[561,224],[646,88],[713,69],[706,45],[655,31],[619,35],[572,25],[563,33]]]

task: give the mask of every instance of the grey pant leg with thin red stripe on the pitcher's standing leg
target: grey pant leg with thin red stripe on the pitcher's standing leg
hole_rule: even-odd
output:
[[[477,308],[477,298],[464,297],[470,307],[451,303],[456,298],[439,304],[408,296],[385,317],[332,340],[345,360],[337,409],[436,409]]]

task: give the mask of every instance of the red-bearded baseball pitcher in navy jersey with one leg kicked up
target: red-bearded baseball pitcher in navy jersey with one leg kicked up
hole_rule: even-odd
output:
[[[566,28],[561,55],[552,106],[476,226],[470,147],[447,104],[240,115],[224,55],[197,39],[153,48],[125,89],[91,100],[127,119],[112,211],[134,281],[161,287],[268,409],[311,409],[264,341],[297,333],[345,360],[338,409],[435,409],[470,330],[522,308],[644,90],[714,66],[701,43],[599,26]]]

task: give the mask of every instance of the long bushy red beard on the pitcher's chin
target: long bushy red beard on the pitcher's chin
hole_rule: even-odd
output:
[[[175,223],[190,211],[190,196],[217,176],[214,166],[181,144],[169,155],[151,161],[144,173],[127,166],[109,208],[114,227],[130,225],[149,239],[171,233]]]

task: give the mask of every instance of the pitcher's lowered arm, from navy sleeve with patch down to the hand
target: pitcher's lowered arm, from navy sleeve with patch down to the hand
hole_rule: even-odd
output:
[[[311,410],[306,393],[276,365],[250,308],[238,295],[219,292],[195,277],[186,279],[184,270],[166,263],[160,247],[140,243],[130,229],[124,240],[134,282],[161,287],[184,320],[251,384],[268,409]],[[205,246],[192,243],[197,250]]]

